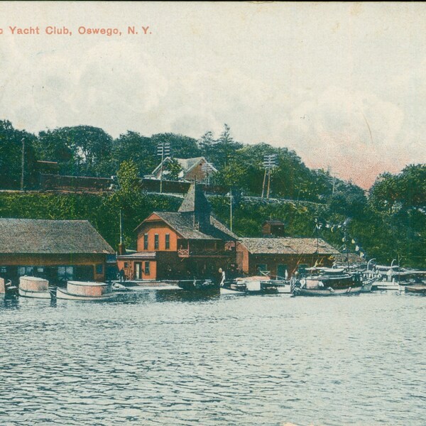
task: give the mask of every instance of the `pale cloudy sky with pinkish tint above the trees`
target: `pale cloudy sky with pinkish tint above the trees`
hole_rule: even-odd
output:
[[[226,123],[368,188],[426,163],[425,45],[425,3],[2,1],[0,119],[113,137]]]

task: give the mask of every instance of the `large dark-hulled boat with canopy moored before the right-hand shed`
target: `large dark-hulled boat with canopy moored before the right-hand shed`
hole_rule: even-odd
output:
[[[309,268],[312,275],[300,278],[293,288],[294,296],[334,296],[359,294],[362,280],[358,273],[343,268]]]

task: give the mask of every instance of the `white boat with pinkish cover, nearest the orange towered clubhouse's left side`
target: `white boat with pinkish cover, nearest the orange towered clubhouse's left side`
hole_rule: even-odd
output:
[[[58,287],[56,298],[65,300],[112,300],[117,296],[111,285],[90,281],[68,281],[67,289]]]

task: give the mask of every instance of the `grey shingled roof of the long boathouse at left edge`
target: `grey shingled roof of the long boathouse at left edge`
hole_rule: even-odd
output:
[[[112,254],[87,220],[0,219],[0,253]]]

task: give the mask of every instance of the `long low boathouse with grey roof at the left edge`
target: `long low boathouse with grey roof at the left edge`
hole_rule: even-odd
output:
[[[114,256],[86,220],[0,219],[0,276],[14,282],[22,275],[104,281]]]

